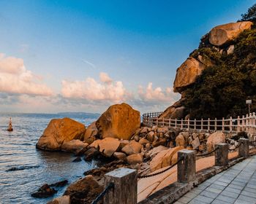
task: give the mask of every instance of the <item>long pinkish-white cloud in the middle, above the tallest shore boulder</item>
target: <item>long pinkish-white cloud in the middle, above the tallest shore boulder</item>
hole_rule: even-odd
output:
[[[89,77],[84,81],[62,80],[61,94],[65,98],[83,98],[88,101],[111,101],[119,103],[127,98],[122,82],[113,82],[108,74],[101,73],[101,82]]]

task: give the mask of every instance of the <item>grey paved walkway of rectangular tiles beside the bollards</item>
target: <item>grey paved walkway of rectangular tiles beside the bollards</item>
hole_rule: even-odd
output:
[[[256,155],[204,181],[176,201],[185,203],[256,203]]]

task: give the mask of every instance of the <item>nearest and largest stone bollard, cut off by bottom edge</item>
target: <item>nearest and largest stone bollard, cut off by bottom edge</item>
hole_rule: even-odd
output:
[[[105,174],[105,187],[113,182],[114,188],[104,197],[105,204],[137,203],[137,170],[118,168]]]

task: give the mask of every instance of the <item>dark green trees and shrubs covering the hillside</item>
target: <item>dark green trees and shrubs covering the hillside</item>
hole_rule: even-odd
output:
[[[243,17],[256,17],[255,7],[253,14]],[[244,31],[233,44],[230,55],[220,55],[214,47],[201,47],[191,54],[214,62],[186,90],[184,105],[191,118],[244,115],[248,113],[246,99],[252,99],[252,111],[256,111],[256,28]]]

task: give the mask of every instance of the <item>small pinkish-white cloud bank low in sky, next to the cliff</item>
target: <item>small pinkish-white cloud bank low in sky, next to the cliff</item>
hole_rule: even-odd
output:
[[[149,82],[146,90],[142,86],[138,88],[138,95],[143,101],[159,101],[159,102],[168,102],[175,100],[178,96],[177,93],[173,93],[171,87],[167,87],[165,90],[162,90],[161,87],[153,88],[153,83]]]

